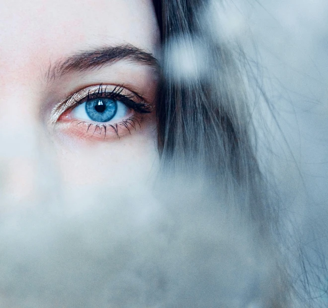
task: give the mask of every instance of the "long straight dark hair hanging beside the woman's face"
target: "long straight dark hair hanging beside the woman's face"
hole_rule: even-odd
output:
[[[286,248],[288,243],[280,225],[278,198],[273,197],[273,185],[261,172],[256,158],[256,130],[244,82],[247,60],[238,44],[218,38],[204,22],[210,2],[153,1],[164,54],[157,105],[158,146],[163,166],[187,174],[202,174],[211,183],[212,191],[220,187],[218,194],[222,189],[227,194],[233,192],[235,200],[227,206],[238,208],[255,226],[267,249],[276,250],[278,265],[273,278],[276,289],[272,291],[274,299],[265,307],[287,307],[295,298],[296,302],[300,300],[312,307],[308,290],[314,286],[309,282],[302,248],[299,248],[302,273],[297,279],[302,290],[298,291],[291,283],[294,278],[288,279],[293,275],[288,273],[288,266],[279,263],[279,249],[273,249],[274,245]],[[201,56],[201,61],[197,58],[201,67],[196,63],[192,74],[181,73],[176,63],[172,63],[172,55],[181,47],[182,52],[188,50],[195,56],[191,61]],[[310,261],[307,263],[311,267]],[[315,280],[320,278],[316,273],[312,276]]]

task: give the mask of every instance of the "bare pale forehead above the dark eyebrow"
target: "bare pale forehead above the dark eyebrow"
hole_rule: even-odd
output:
[[[153,53],[159,39],[151,0],[12,0],[0,1],[0,11],[0,70],[6,73],[104,44]]]

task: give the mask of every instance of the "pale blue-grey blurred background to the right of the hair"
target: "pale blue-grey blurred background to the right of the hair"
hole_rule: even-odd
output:
[[[286,203],[298,210],[299,221],[325,225],[323,220],[328,216],[328,1],[238,0],[230,3],[230,9],[235,12],[231,18],[235,31],[241,33],[240,39],[249,55],[259,63],[259,84],[268,95],[283,134],[273,152],[278,154],[275,172],[282,193],[288,199]],[[273,134],[278,135],[275,128],[273,130]]]

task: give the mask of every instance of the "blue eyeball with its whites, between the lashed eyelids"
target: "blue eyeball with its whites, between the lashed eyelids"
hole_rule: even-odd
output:
[[[127,113],[128,107],[123,103],[106,97],[88,99],[72,111],[74,118],[102,123],[121,119]]]

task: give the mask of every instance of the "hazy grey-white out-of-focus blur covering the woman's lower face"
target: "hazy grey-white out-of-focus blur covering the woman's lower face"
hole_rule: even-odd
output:
[[[223,200],[137,189],[2,216],[0,307],[267,307],[275,259]]]

